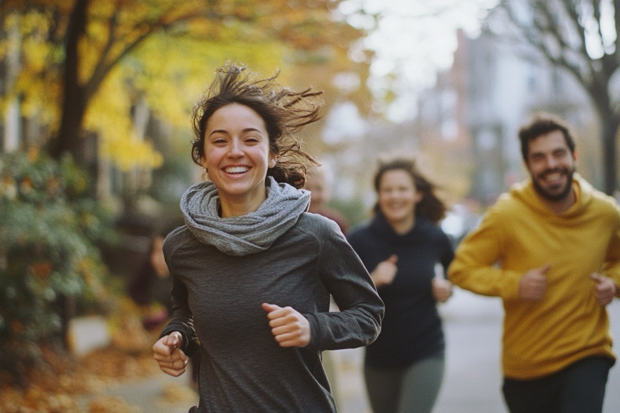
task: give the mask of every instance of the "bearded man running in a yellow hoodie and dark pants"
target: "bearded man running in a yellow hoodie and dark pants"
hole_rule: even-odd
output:
[[[557,118],[519,131],[529,178],[459,244],[453,283],[502,298],[503,396],[512,413],[600,413],[615,362],[606,305],[620,291],[620,210],[575,172]]]

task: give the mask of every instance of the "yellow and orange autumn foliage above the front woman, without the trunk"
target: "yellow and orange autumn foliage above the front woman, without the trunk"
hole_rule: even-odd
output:
[[[225,61],[267,76],[281,69],[284,84],[301,80],[302,87],[310,82],[329,89],[334,69],[351,69],[348,45],[361,35],[334,19],[340,1],[91,1],[86,32],[78,33],[78,56],[70,72],[78,78],[69,79],[71,87],[64,84],[63,68],[72,51],[66,43],[68,18],[77,3],[35,0],[11,12],[4,9],[0,24],[7,36],[0,39],[0,58],[15,47],[8,34],[19,26],[20,73],[0,96],[0,109],[19,96],[22,115],[42,126],[43,140],[70,124],[62,117],[68,110],[80,117],[81,133],[98,136],[101,156],[123,171],[157,167],[161,154],[148,136],[134,135],[132,113],[138,102],[146,101],[151,116],[171,126],[173,133],[187,136],[194,102]],[[308,59],[304,53],[321,57]],[[313,61],[315,69],[319,62],[321,68],[308,67],[299,76],[300,61]],[[71,107],[81,99],[60,105],[66,90],[84,99],[83,118],[82,107]],[[56,141],[71,140],[63,135]]]

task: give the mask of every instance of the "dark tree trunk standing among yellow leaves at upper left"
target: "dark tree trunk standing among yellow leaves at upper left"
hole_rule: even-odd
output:
[[[60,158],[64,153],[73,154],[82,163],[80,150],[82,122],[86,113],[86,87],[79,82],[79,40],[86,33],[86,12],[89,0],[76,0],[69,17],[64,73],[63,101],[58,135],[51,140],[50,154]]]

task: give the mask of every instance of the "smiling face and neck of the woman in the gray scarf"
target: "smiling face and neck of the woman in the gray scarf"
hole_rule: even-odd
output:
[[[205,152],[201,159],[218,189],[222,216],[229,207],[240,215],[257,210],[265,200],[267,169],[275,166],[265,122],[250,107],[229,104],[206,122]]]

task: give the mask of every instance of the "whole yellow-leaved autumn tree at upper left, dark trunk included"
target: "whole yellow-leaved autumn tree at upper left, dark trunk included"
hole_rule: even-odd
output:
[[[349,58],[364,32],[339,2],[4,1],[2,104],[14,108],[4,146],[69,153],[97,177],[100,197],[121,186],[131,198],[164,160],[151,135],[168,128],[188,140],[192,104],[224,60],[282,68],[283,81],[325,91],[335,73],[356,73],[368,109],[369,56]],[[293,66],[306,70],[293,75]]]

